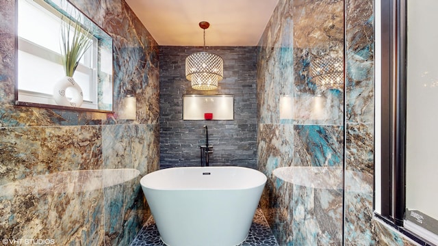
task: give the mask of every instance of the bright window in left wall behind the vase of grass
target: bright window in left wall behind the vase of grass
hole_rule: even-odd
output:
[[[54,0],[55,1],[55,0]],[[92,46],[73,75],[83,91],[83,109],[112,111],[112,40],[65,0],[18,0],[18,105],[57,105],[53,85],[64,74],[60,52],[62,16],[89,26]],[[29,17],[31,16],[31,17]],[[110,41],[110,42],[109,42]],[[110,93],[108,93],[110,92]],[[66,97],[71,97],[70,88]]]

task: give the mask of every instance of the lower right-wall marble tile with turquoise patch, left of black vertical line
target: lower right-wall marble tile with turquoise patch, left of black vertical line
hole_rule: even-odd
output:
[[[343,133],[342,126],[294,126],[294,167],[342,167]],[[342,187],[315,185],[320,178],[313,176],[306,187],[294,184],[294,245],[342,242]]]

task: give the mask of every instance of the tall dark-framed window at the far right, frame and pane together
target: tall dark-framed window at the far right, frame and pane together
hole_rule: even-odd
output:
[[[376,187],[381,189],[376,189],[376,213],[422,245],[438,245],[434,6],[438,8],[434,0],[381,0],[381,154],[376,156],[381,161],[376,163],[381,167]]]

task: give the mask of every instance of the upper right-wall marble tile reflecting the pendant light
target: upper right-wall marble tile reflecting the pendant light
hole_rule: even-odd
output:
[[[320,90],[310,67],[325,57],[344,58],[344,1],[294,1],[293,8],[294,122],[342,124],[344,93]]]

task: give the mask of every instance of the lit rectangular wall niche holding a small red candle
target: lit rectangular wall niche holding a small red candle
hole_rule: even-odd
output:
[[[184,95],[183,120],[234,120],[234,96]]]

